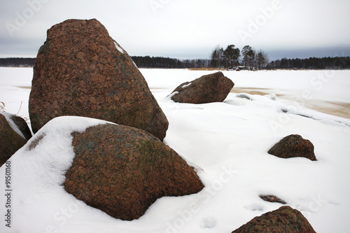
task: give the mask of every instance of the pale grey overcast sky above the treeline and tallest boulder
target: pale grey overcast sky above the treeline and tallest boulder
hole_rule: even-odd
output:
[[[96,18],[129,55],[209,58],[251,45],[270,60],[350,56],[349,0],[0,0],[0,57],[36,57],[52,25]]]

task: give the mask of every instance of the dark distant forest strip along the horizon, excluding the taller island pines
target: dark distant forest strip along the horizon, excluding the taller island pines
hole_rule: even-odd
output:
[[[190,69],[216,67],[212,59],[176,59],[169,57],[132,56],[139,68]],[[0,58],[0,66],[33,67],[35,58],[10,57]],[[244,60],[236,66],[244,66]],[[221,67],[225,68],[225,66]],[[232,67],[231,67],[232,68]],[[233,67],[235,68],[235,67]],[[350,69],[350,57],[310,57],[305,59],[277,59],[268,62],[260,69]]]

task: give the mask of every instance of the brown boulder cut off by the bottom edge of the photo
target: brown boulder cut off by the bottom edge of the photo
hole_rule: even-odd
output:
[[[290,206],[282,206],[281,208],[264,213],[250,220],[245,225],[239,227],[232,233],[248,233],[248,232],[298,232],[298,233],[312,233],[315,232],[311,227],[309,221],[295,209]],[[316,232],[315,232],[316,233]]]

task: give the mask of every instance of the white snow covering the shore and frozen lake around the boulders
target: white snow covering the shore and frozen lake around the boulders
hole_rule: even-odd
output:
[[[66,124],[56,121],[45,129],[52,135],[45,150],[29,155],[22,148],[10,159],[11,228],[4,221],[6,166],[1,167],[0,232],[232,232],[281,206],[259,195],[283,199],[316,232],[350,232],[350,115],[344,109],[350,104],[350,71],[224,71],[235,87],[223,103],[178,104],[167,97],[181,83],[213,72],[141,69],[169,120],[165,143],[202,167],[204,190],[162,197],[133,221],[86,206],[64,192],[62,174],[55,176],[55,164],[64,164],[58,170],[69,167],[73,155],[69,141],[57,143],[55,134],[97,122],[84,118],[69,125],[64,118]],[[0,68],[0,101],[7,112],[28,116],[31,78],[32,69]],[[333,111],[346,118],[327,114]],[[267,153],[290,134],[309,139],[318,161]],[[55,153],[62,151],[70,156],[57,160]]]

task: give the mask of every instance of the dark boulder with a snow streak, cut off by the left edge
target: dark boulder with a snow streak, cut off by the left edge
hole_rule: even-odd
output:
[[[24,146],[30,137],[31,132],[23,118],[0,112],[0,167],[13,153]]]

